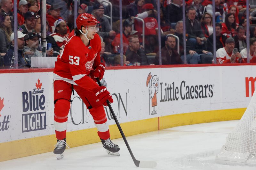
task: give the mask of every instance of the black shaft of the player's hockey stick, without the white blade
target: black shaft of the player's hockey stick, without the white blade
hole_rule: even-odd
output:
[[[97,82],[98,82],[99,86],[101,86],[101,83],[100,83],[99,78],[96,78],[96,79],[97,79]],[[116,125],[117,125],[117,127],[118,127],[118,129],[119,129],[119,131],[120,131],[120,133],[121,133],[121,135],[122,135],[122,137],[123,137],[123,139],[124,139],[124,143],[126,144],[127,149],[128,149],[128,151],[130,152],[130,154],[131,154],[131,156],[132,156],[132,160],[133,160],[134,164],[135,164],[137,167],[139,167],[140,161],[137,160],[137,159],[135,159],[135,157],[134,157],[134,155],[133,155],[133,153],[132,153],[132,150],[131,150],[131,148],[130,148],[130,146],[129,146],[127,140],[126,140],[126,137],[124,136],[124,132],[123,132],[123,130],[122,130],[122,128],[121,128],[119,122],[117,121],[116,115],[115,115],[115,113],[114,113],[114,111],[113,111],[113,109],[112,109],[112,107],[111,107],[111,105],[110,105],[110,102],[109,102],[108,100],[107,100],[107,104],[108,104],[110,113],[111,113],[112,117],[114,118],[114,120],[115,120],[115,122],[116,122]]]

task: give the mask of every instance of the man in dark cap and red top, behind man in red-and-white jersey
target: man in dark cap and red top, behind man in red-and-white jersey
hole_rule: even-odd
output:
[[[49,22],[50,31],[52,33],[53,33],[52,26],[54,26],[54,22],[58,19],[63,19],[60,17],[60,10],[62,10],[62,8],[58,4],[53,4],[49,9],[49,13],[46,14],[46,19]],[[69,33],[68,27],[67,27],[67,33]]]

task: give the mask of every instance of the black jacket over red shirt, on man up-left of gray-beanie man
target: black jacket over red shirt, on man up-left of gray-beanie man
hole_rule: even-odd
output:
[[[227,36],[220,35],[220,37],[216,36],[216,51],[220,48],[225,47],[225,41],[227,40]],[[207,51],[212,52],[213,54],[213,34],[209,36],[209,38],[206,41],[205,48]]]

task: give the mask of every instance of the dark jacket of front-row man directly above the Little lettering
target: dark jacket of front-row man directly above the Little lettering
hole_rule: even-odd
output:
[[[172,55],[170,56],[168,50],[166,47],[163,47],[161,49],[162,52],[162,64],[168,65],[168,64],[182,64],[182,60],[180,58],[180,55],[177,51],[172,50]],[[155,62],[156,65],[159,64],[159,52],[156,54]]]

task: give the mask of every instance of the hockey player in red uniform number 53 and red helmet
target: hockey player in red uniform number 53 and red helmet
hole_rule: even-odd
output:
[[[113,99],[105,86],[100,87],[95,83],[95,78],[101,79],[105,71],[105,65],[100,63],[101,41],[96,33],[99,30],[98,21],[93,15],[83,13],[76,18],[76,26],[76,35],[67,41],[58,55],[53,71],[54,126],[57,138],[53,153],[58,154],[57,159],[63,158],[67,145],[70,97],[74,89],[89,109],[103,147],[109,154],[119,156],[118,145],[110,140],[103,107],[107,106],[107,100],[112,103]]]

